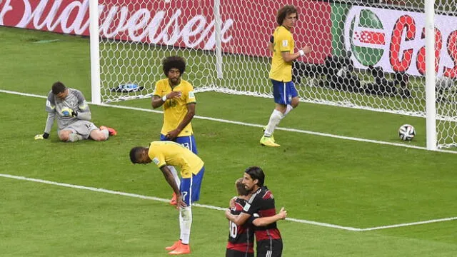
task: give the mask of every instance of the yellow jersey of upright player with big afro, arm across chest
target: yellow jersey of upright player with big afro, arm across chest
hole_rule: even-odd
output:
[[[181,83],[171,88],[169,79],[161,79],[156,83],[154,96],[163,97],[171,91],[180,91],[179,99],[168,99],[164,103],[164,126],[161,134],[166,135],[178,127],[187,114],[187,104],[196,103],[194,87],[187,81],[181,79]],[[191,136],[193,133],[192,125],[189,122],[178,136]]]

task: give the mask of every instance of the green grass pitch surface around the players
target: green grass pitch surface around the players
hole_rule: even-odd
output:
[[[54,40],[34,44],[39,40]],[[159,138],[162,115],[91,106],[96,125],[113,126],[108,141],[34,141],[46,121],[45,96],[54,81],[90,99],[89,39],[0,27],[0,174],[169,198],[159,169],[134,166],[133,146]],[[280,221],[283,256],[456,256],[457,220],[377,228],[457,216],[453,153],[278,130],[281,148],[258,144],[271,99],[214,92],[196,95],[193,121],[206,174],[199,203],[226,207],[244,168],[266,171],[276,207],[288,217],[334,225]],[[149,110],[149,99],[116,103]],[[206,119],[239,121],[247,125]],[[425,146],[425,121],[411,116],[301,104],[282,128],[401,143],[396,131],[413,124],[413,146]],[[224,256],[224,212],[195,207],[190,256]],[[176,209],[154,201],[37,183],[0,175],[0,256],[168,256],[179,235]]]

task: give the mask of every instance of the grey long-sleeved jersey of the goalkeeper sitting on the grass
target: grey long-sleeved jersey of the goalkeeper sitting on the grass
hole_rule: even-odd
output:
[[[62,109],[69,108],[78,113],[90,112],[89,105],[87,104],[86,99],[84,99],[84,95],[81,91],[70,88],[66,89],[69,90],[69,94],[65,99],[59,99],[52,91],[49,91],[48,98],[46,99],[46,111],[49,114],[57,116],[57,126],[59,130],[66,128],[75,121],[79,121],[76,117],[63,116]]]

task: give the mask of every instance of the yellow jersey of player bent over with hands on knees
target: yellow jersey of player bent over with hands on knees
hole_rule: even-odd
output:
[[[182,178],[199,173],[204,162],[188,148],[173,141],[153,141],[149,145],[149,158],[161,168],[164,165],[179,167]]]

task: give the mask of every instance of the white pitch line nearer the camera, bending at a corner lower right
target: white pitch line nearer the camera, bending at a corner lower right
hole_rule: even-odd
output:
[[[119,196],[128,196],[128,197],[133,197],[133,198],[141,198],[141,199],[145,199],[145,200],[161,201],[164,203],[168,203],[170,201],[169,199],[164,199],[164,198],[159,198],[159,197],[154,197],[154,196],[142,196],[142,195],[139,195],[136,193],[124,193],[124,192],[119,192],[119,191],[111,191],[111,190],[107,190],[104,188],[78,186],[78,185],[72,185],[69,183],[46,181],[46,180],[38,179],[38,178],[26,178],[24,176],[14,176],[14,175],[0,173],[0,177],[13,178],[13,179],[18,179],[18,180],[23,180],[23,181],[32,181],[32,182],[37,182],[37,183],[46,183],[46,184],[54,185],[54,186],[64,186],[67,188],[77,188],[77,189],[95,191],[95,192],[100,192],[100,193],[111,193],[111,194],[115,194],[115,195],[119,195]],[[206,204],[199,204],[199,203],[194,203],[194,206],[201,207],[201,208],[209,208],[209,209],[218,210],[218,211],[226,210],[226,208],[222,208],[222,207],[218,207],[218,206],[210,206],[210,205],[206,205]],[[388,226],[378,226],[378,227],[373,227],[373,228],[352,228],[352,227],[339,226],[339,225],[317,222],[317,221],[307,221],[307,220],[302,220],[302,219],[298,219],[298,218],[286,218],[286,221],[292,221],[292,222],[297,222],[297,223],[306,223],[306,224],[310,224],[310,225],[314,225],[314,226],[323,226],[323,227],[327,227],[327,228],[337,228],[337,229],[342,229],[342,230],[346,230],[346,231],[375,231],[375,230],[381,230],[381,229],[386,229],[386,228],[399,228],[399,227],[403,227],[403,226],[415,226],[415,225],[422,225],[422,224],[427,224],[427,223],[436,223],[436,222],[453,221],[453,220],[457,220],[457,217],[440,218],[440,219],[433,219],[430,221],[418,221],[418,222],[413,222],[413,223],[401,223],[401,224],[394,224],[394,225],[388,225]]]

